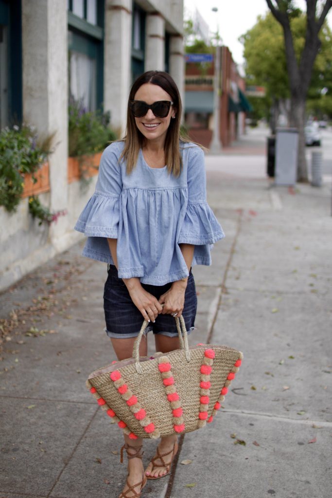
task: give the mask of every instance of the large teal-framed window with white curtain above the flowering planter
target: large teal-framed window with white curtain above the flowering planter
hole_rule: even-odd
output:
[[[69,97],[86,111],[103,105],[104,0],[68,0]]]

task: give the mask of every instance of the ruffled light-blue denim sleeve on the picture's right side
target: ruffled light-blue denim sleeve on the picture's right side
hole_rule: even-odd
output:
[[[200,147],[191,147],[187,184],[188,204],[178,244],[195,246],[214,244],[224,237],[224,233],[207,203],[204,152]]]

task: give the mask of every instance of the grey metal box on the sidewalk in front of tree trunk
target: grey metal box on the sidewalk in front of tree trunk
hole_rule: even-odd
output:
[[[299,132],[297,128],[277,128],[275,185],[295,185]]]

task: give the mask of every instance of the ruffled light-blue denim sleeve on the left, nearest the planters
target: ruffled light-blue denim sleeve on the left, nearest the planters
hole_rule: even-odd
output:
[[[74,227],[87,237],[117,238],[122,180],[114,145],[111,144],[103,152],[96,191]]]

